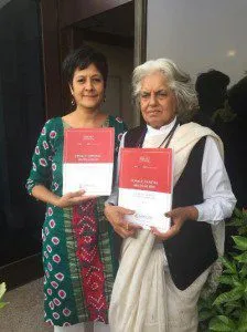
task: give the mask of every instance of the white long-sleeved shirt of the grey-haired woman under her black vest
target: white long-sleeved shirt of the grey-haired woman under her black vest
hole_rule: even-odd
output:
[[[159,146],[167,134],[171,131],[174,123],[175,120],[160,129],[148,126],[144,143],[152,146],[152,142],[153,144],[157,142],[157,146]],[[182,128],[183,131],[181,131]],[[202,128],[202,126],[190,123],[179,128],[179,131],[175,133],[175,136],[182,136],[183,132],[186,131],[190,138],[190,136],[193,135],[193,132],[198,132],[200,128]],[[208,129],[207,134],[210,133],[212,133],[212,131]],[[181,139],[179,137],[179,141],[183,142],[183,138]],[[124,142],[125,134],[120,143],[120,148],[124,146]],[[174,138],[172,139],[170,147],[172,146]],[[232,191],[229,178],[225,169],[223,151],[222,147],[221,149],[218,147],[219,146],[217,146],[215,139],[211,135],[206,137],[202,163],[202,187],[204,201],[195,206],[198,210],[197,221],[206,221],[212,225],[217,225],[223,219],[230,217],[236,204],[236,198]],[[118,204],[118,178],[107,201],[115,205]]]

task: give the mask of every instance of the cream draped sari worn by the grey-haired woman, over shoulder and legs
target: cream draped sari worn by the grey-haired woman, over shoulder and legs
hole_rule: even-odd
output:
[[[170,144],[174,151],[174,184],[192,148],[203,136],[213,137],[223,154],[221,139],[208,128],[190,123],[175,131]],[[143,147],[157,147],[160,142],[161,137],[150,135],[146,137]],[[212,227],[217,228],[216,245],[218,252],[223,253],[224,222]],[[111,332],[197,331],[196,303],[211,269],[186,290],[180,291],[165,263],[163,246],[155,243],[150,231],[140,230],[136,238],[124,240],[109,310]]]

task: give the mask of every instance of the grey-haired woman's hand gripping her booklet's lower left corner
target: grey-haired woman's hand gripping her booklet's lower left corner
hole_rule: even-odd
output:
[[[114,227],[114,230],[122,238],[133,237],[137,229],[142,229],[141,226],[125,220],[126,215],[133,214],[133,210],[129,210],[120,206],[112,206],[109,204],[105,206],[106,218]]]

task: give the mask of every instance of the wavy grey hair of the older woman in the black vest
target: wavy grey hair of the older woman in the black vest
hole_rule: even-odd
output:
[[[198,100],[189,74],[183,72],[170,59],[157,59],[138,65],[132,75],[132,97],[136,106],[140,110],[141,81],[160,71],[168,80],[169,87],[174,92],[176,98],[176,114],[180,121],[190,120],[198,110]]]

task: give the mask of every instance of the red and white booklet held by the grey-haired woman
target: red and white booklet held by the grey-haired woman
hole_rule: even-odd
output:
[[[122,148],[119,173],[119,206],[135,210],[127,219],[143,228],[170,227],[164,212],[171,209],[173,188],[171,148]]]

